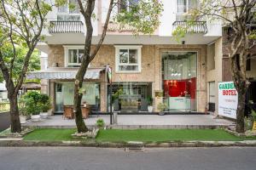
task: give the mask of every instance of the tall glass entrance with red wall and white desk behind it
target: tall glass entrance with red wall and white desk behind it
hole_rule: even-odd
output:
[[[164,102],[169,111],[196,111],[195,52],[163,52]]]

